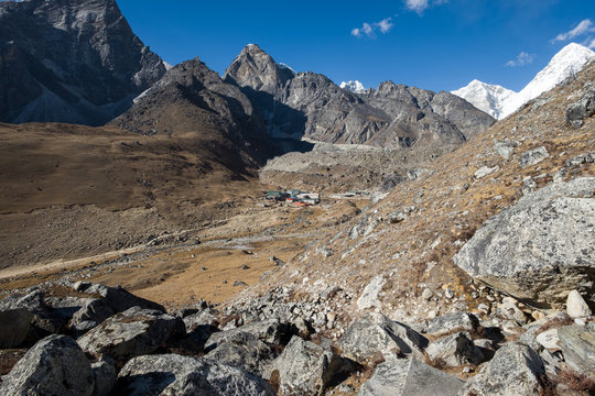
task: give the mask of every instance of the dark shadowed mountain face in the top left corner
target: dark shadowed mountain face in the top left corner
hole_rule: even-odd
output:
[[[115,0],[0,3],[0,121],[100,125],[165,73]]]

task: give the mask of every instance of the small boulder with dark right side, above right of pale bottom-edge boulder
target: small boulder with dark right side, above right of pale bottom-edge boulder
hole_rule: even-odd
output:
[[[464,331],[432,342],[425,352],[433,362],[441,360],[448,366],[476,365],[484,360],[484,354],[475,346],[470,334]]]

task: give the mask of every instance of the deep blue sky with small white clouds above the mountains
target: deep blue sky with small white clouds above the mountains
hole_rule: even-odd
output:
[[[335,82],[519,90],[570,42],[595,47],[593,0],[118,0],[145,45],[223,74],[248,43]],[[555,40],[555,38],[559,40]],[[593,43],[592,43],[593,42]]]

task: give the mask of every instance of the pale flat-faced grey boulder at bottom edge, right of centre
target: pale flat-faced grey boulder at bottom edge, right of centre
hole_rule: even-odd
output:
[[[390,359],[379,364],[358,396],[452,396],[463,381],[414,359]]]

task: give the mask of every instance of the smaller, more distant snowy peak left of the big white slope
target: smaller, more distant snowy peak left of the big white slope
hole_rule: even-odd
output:
[[[479,80],[473,80],[466,87],[454,90],[451,94],[461,97],[482,111],[499,120],[507,100],[517,95],[513,90],[498,85],[490,85]]]

